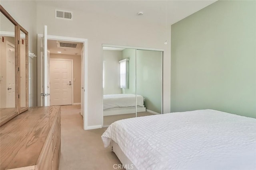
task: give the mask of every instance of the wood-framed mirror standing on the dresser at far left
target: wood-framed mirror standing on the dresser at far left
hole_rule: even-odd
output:
[[[28,32],[0,5],[0,126],[28,110]]]

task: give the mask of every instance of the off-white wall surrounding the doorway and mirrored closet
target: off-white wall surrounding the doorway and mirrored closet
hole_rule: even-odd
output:
[[[34,9],[34,3],[34,1],[5,1],[4,7],[32,37],[35,37],[36,33],[42,33],[44,25],[48,25],[49,35],[88,39],[88,126],[102,124],[103,43],[164,49],[163,110],[164,113],[170,112],[170,44],[164,45],[166,39],[170,42],[170,29],[166,35],[164,26],[152,25],[142,20],[124,20],[107,14],[86,13],[86,11],[74,11],[72,21],[60,20],[55,19],[54,16],[57,7],[37,5]],[[67,6],[64,10],[70,9]],[[26,14],[30,16],[26,18]],[[36,33],[35,28],[37,28]],[[31,43],[33,42],[30,39],[30,46],[34,49]]]

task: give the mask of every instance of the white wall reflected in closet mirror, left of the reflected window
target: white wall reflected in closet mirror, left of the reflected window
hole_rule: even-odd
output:
[[[122,51],[103,50],[104,89],[103,94],[121,94],[120,65]]]

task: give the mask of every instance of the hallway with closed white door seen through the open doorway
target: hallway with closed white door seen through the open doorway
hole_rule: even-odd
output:
[[[50,106],[81,104],[82,48],[80,42],[47,40]]]

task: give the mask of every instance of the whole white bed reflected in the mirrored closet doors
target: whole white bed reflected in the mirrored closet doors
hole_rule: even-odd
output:
[[[119,115],[135,113],[137,98],[137,112],[146,111],[144,98],[135,94],[108,94],[103,95],[103,115]]]

